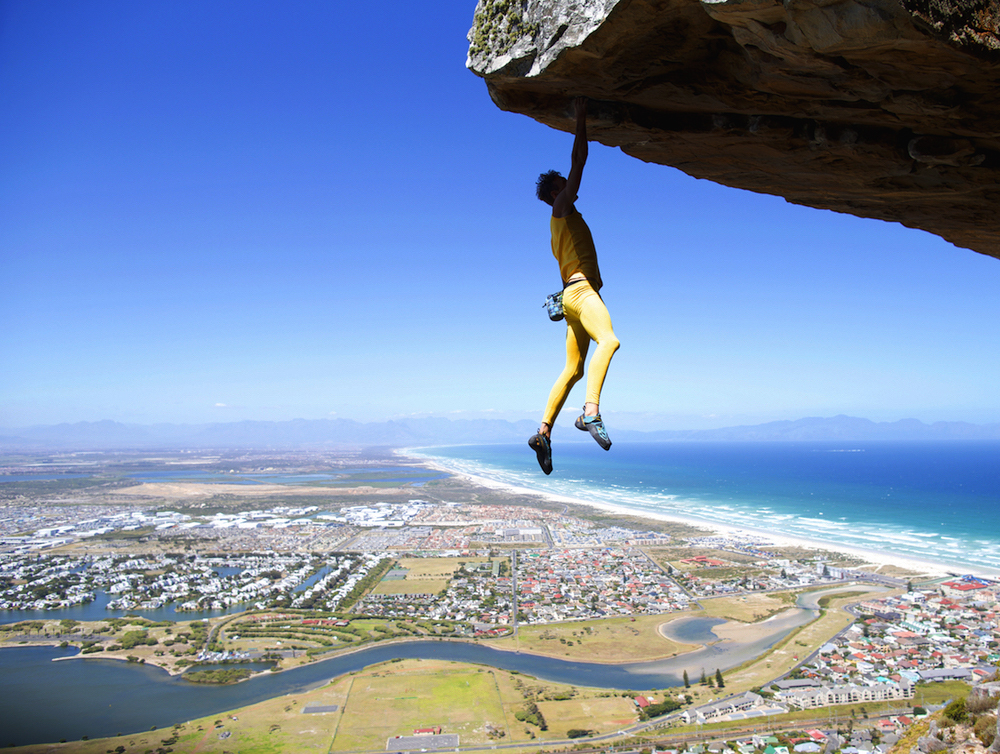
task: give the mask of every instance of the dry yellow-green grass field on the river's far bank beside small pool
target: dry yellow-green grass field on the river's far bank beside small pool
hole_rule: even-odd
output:
[[[643,615],[632,618],[522,626],[517,637],[491,640],[498,649],[516,649],[587,662],[642,662],[672,657],[696,649],[667,639],[659,627],[691,613]]]

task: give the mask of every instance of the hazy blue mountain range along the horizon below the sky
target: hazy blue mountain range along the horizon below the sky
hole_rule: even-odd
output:
[[[141,450],[180,448],[336,448],[463,445],[525,442],[536,430],[532,421],[502,419],[402,419],[357,422],[350,419],[295,419],[218,424],[122,424],[78,422],[7,430],[0,448],[38,450]],[[565,442],[586,442],[564,433]],[[613,430],[619,442],[774,442],[774,441],[942,441],[1000,440],[1000,424],[935,422],[916,419],[873,422],[852,416],[811,417],[724,429],[639,432]]]

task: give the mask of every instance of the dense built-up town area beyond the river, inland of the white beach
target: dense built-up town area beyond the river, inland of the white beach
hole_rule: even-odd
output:
[[[111,597],[108,609],[172,605],[187,611],[247,605],[336,610],[339,598],[364,575],[363,570],[355,571],[373,561],[490,558],[500,553],[509,553],[503,573],[466,569],[462,578],[443,589],[440,584],[428,592],[407,589],[400,600],[391,592],[376,591],[365,599],[364,608],[375,615],[457,620],[474,615],[480,623],[510,624],[516,599],[521,622],[544,623],[685,610],[692,599],[711,595],[884,580],[868,571],[831,567],[829,558],[778,557],[760,549],[763,543],[752,537],[693,538],[686,547],[723,554],[671,562],[669,535],[600,526],[522,506],[413,499],[350,506],[336,513],[306,506],[205,516],[170,510],[96,517],[88,510],[86,515],[84,521],[64,519],[3,539],[0,609],[65,608],[93,602],[103,592]],[[17,525],[10,518],[3,524],[8,529]],[[134,539],[113,535],[136,532],[145,545],[140,549],[158,554],[122,552],[122,543]],[[102,538],[95,540],[98,536]],[[294,550],[289,537],[294,537]],[[326,551],[317,549],[320,542]],[[234,552],[237,546],[241,550]],[[740,567],[725,553],[739,557]],[[387,580],[405,575],[396,571]],[[902,584],[892,579],[888,583]],[[480,609],[487,598],[488,609]],[[393,608],[395,601],[398,608]]]

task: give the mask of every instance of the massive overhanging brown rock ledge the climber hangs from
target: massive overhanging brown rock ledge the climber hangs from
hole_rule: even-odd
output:
[[[1000,0],[479,0],[503,110],[1000,258]]]

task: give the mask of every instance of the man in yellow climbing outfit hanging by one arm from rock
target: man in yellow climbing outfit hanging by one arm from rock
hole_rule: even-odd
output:
[[[584,360],[591,340],[597,343],[597,348],[587,369],[586,403],[583,414],[576,420],[576,428],[589,432],[605,450],[611,447],[608,432],[601,421],[601,388],[611,357],[619,345],[611,328],[611,316],[598,293],[603,283],[594,239],[575,206],[583,167],[587,163],[587,98],[577,97],[573,107],[576,138],[569,176],[563,178],[555,170],[550,170],[538,176],[535,184],[538,198],[552,207],[549,220],[552,254],[559,262],[563,281],[563,312],[566,316],[566,366],[549,393],[538,434],[528,440],[528,446],[538,458],[538,465],[546,474],[552,473],[552,426],[570,389],[583,377]]]

